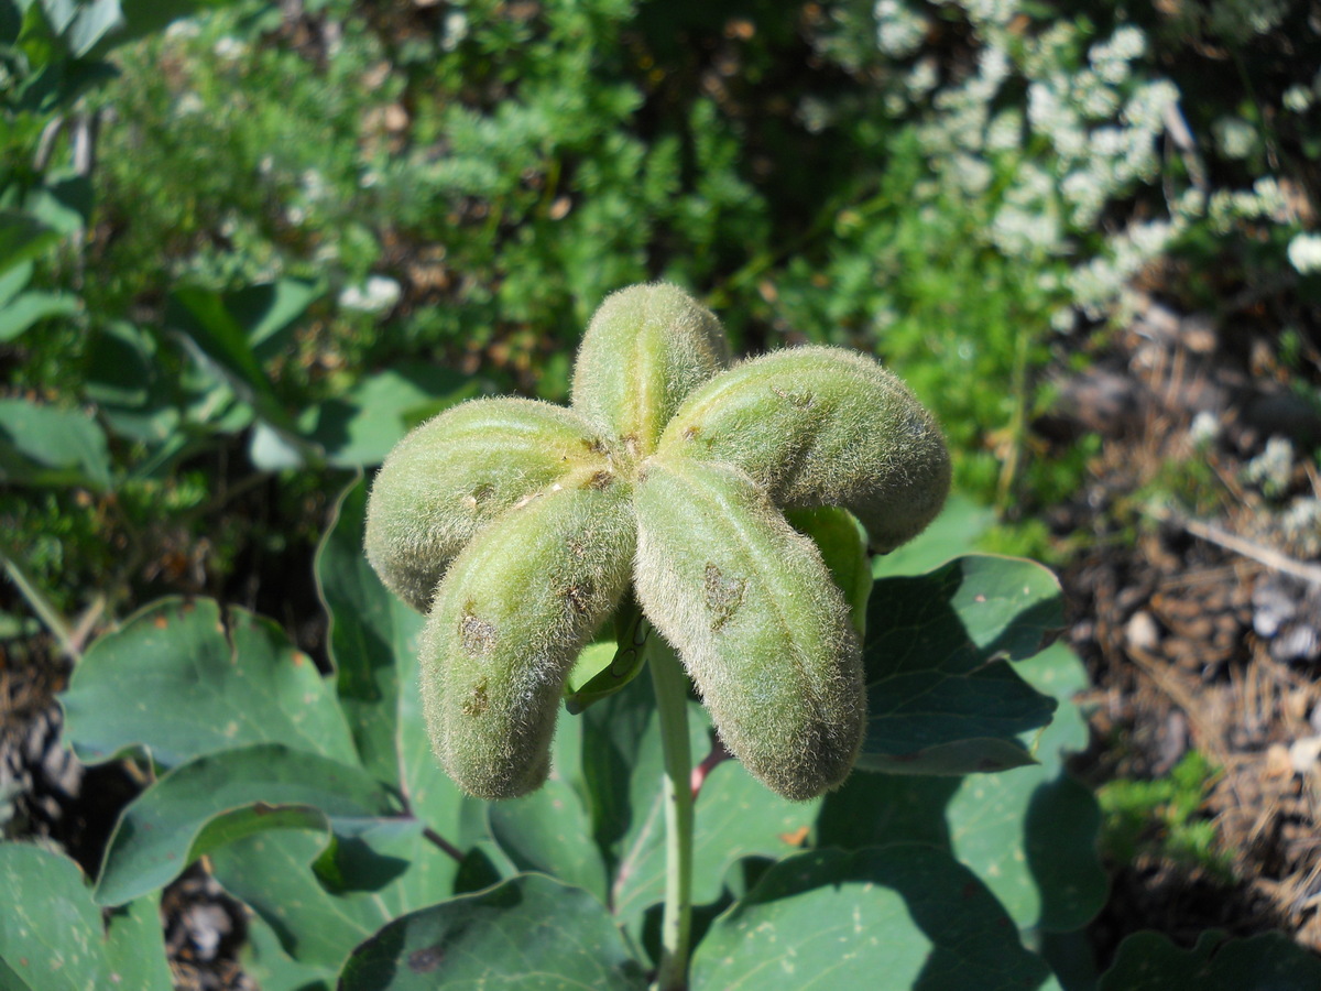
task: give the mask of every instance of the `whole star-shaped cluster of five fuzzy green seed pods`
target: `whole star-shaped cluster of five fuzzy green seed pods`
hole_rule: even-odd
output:
[[[849,606],[785,510],[847,509],[890,550],[948,484],[930,414],[871,358],[799,348],[731,367],[708,309],[635,285],[592,318],[568,408],[478,399],[404,437],[366,552],[428,614],[428,728],[465,791],[542,785],[568,673],[631,587],[729,752],[806,799],[852,768],[867,691]]]

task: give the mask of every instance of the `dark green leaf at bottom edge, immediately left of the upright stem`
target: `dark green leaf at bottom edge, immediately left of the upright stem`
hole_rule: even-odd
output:
[[[520,875],[391,922],[354,950],[339,987],[641,991],[646,978],[596,899]]]

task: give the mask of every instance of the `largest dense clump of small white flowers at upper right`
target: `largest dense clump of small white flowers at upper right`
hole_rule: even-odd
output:
[[[1178,91],[1164,79],[1135,78],[1133,63],[1147,53],[1147,38],[1135,26],[1092,44],[1086,65],[1070,71],[1085,46],[1077,25],[1057,22],[1022,37],[1009,24],[1024,4],[960,5],[982,42],[976,70],[933,91],[937,73],[923,59],[905,83],[910,100],[931,94],[933,112],[918,132],[922,149],[943,185],[964,198],[983,197],[996,176],[1009,176],[987,231],[1001,252],[1067,254],[1071,231],[1092,229],[1108,202],[1157,174],[1157,139]],[[915,50],[927,26],[915,9],[904,0],[878,0],[875,12],[886,54]],[[1021,108],[1001,106],[1015,79],[1026,83]]]

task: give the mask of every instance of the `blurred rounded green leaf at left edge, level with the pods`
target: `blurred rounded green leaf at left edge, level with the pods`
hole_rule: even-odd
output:
[[[110,451],[78,410],[0,399],[0,482],[110,489]]]

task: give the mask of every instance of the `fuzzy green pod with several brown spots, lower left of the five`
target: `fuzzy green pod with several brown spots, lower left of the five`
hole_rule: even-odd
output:
[[[629,584],[629,486],[584,470],[506,510],[450,564],[423,633],[423,710],[468,794],[546,781],[564,679]]]

